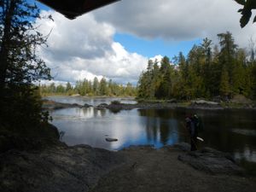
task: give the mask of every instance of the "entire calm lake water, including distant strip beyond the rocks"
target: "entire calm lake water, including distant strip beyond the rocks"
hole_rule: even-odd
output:
[[[131,99],[85,98],[53,96],[56,102],[96,106],[102,102]],[[199,148],[212,147],[233,154],[247,169],[256,171],[256,111],[254,110],[191,110],[191,109],[132,109],[113,113],[95,108],[67,108],[51,112],[53,124],[65,132],[62,141],[68,145],[89,144],[96,148],[119,150],[130,145],[154,145],[160,148],[175,143],[189,143],[184,126],[188,114],[201,117],[205,142]],[[106,138],[117,138],[108,143]]]

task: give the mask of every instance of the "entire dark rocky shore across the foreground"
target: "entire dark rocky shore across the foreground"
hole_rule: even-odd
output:
[[[41,152],[13,150],[0,154],[0,191],[242,192],[256,189],[255,177],[245,177],[226,154],[209,148],[191,154],[187,148],[185,144],[160,149],[133,146],[113,152],[86,145],[61,145]],[[219,161],[216,167],[212,162],[219,158],[225,162],[222,166]],[[196,163],[201,165],[200,170],[193,166]],[[214,172],[206,168],[211,164],[216,168],[212,169]]]

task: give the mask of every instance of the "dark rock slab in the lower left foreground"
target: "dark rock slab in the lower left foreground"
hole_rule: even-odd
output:
[[[0,191],[88,191],[122,162],[115,152],[86,145],[43,152],[12,150],[0,154]]]

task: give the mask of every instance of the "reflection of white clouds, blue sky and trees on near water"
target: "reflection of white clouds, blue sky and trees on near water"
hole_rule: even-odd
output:
[[[68,108],[51,113],[53,124],[65,131],[63,141],[68,145],[90,144],[97,148],[119,149],[137,144],[152,144],[160,148],[184,140],[177,119],[162,111],[130,110],[113,113],[96,108]],[[106,143],[105,138],[119,141]]]

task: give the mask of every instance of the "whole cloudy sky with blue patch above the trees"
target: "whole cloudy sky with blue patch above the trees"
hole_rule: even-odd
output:
[[[148,58],[186,55],[202,38],[217,44],[217,34],[230,31],[242,48],[256,40],[256,24],[240,28],[241,6],[233,0],[122,0],[76,20],[39,5],[54,18],[37,24],[51,31],[49,46],[38,51],[56,82],[105,77],[137,84]]]

